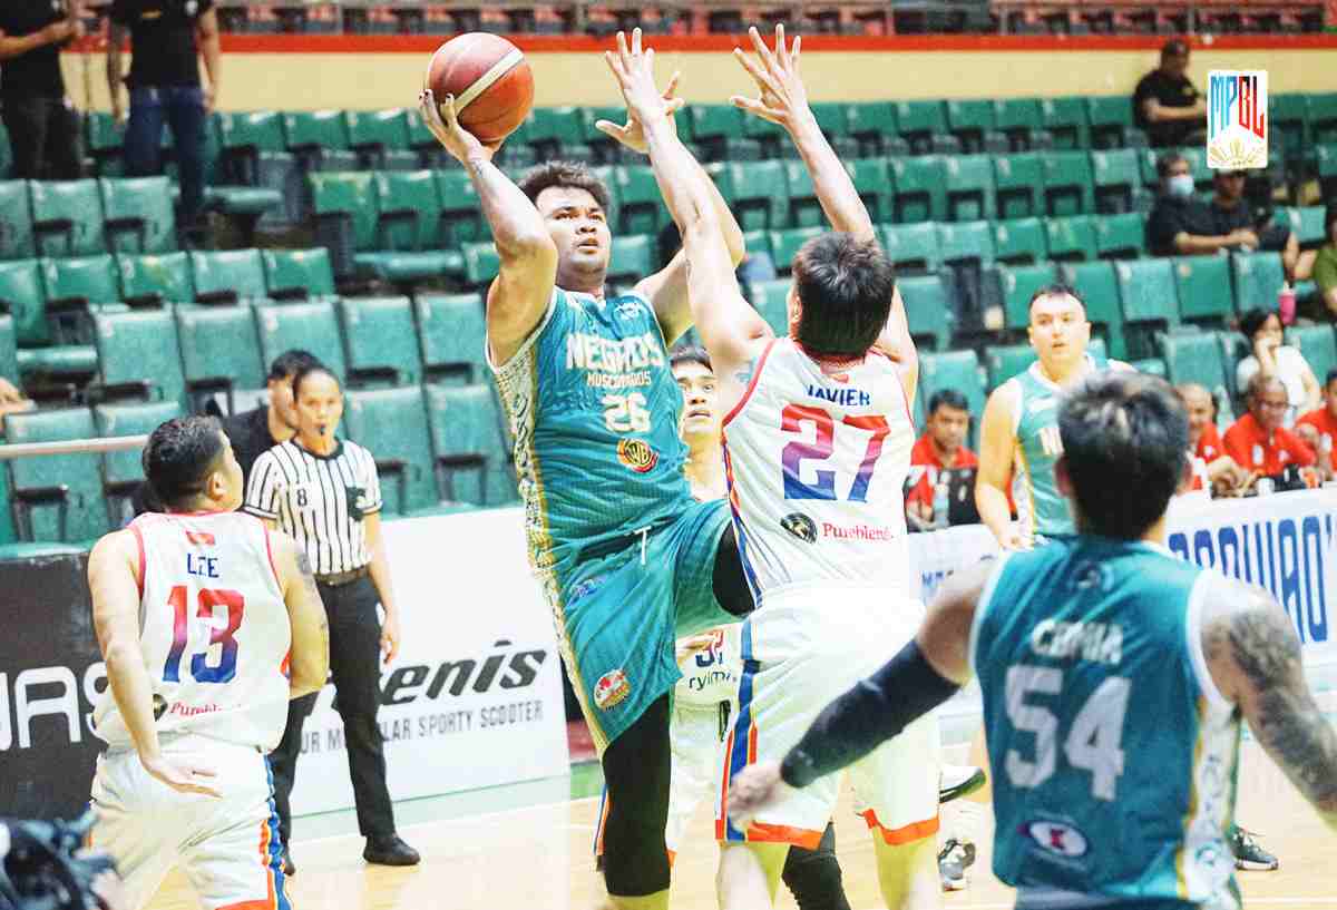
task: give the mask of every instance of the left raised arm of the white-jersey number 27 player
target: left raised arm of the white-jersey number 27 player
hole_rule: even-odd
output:
[[[655,88],[654,51],[642,51],[638,28],[630,49],[619,32],[616,53],[606,56],[627,111],[642,124],[659,191],[682,233],[687,301],[721,377],[721,405],[730,408],[746,389],[737,374],[770,338],[770,327],[738,290],[710,180],[678,139],[667,103]]]

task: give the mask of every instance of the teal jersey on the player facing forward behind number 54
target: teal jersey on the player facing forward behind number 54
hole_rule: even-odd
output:
[[[1092,370],[1108,369],[1104,357],[1087,354]],[[1039,362],[1008,380],[1013,392],[1012,438],[1015,441],[1012,502],[1025,537],[1071,535],[1072,513],[1054,481],[1054,462],[1063,454],[1059,438],[1059,402],[1063,390],[1047,380]]]

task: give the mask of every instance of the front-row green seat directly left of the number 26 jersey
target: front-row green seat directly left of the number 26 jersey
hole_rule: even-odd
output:
[[[515,473],[491,384],[429,385],[424,393],[443,498],[476,505],[515,501]]]

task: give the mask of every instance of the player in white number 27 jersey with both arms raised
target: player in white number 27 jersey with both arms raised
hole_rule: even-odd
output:
[[[924,615],[909,573],[901,493],[915,444],[906,402],[917,359],[894,273],[848,174],[812,122],[798,43],[790,48],[782,28],[774,52],[755,29],[751,37],[762,64],[745,65],[762,92],[743,106],[790,127],[828,216],[844,230],[809,241],[796,255],[792,337],[782,339],[738,290],[706,182],[655,88],[654,52],[642,48],[636,29],[630,47],[619,33],[618,51],[606,55],[682,233],[687,295],[727,410],[730,504],[758,608],[743,625],[726,775],[783,756],[828,694],[881,665]],[[941,901],[937,751],[937,726],[928,718],[853,772],[882,897],[893,909]],[[723,910],[771,906],[790,845],[817,846],[838,784],[828,778],[743,827],[726,826]]]

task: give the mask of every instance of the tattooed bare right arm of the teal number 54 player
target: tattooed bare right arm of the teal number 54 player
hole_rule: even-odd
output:
[[[1211,597],[1202,628],[1207,668],[1254,736],[1337,832],[1337,730],[1305,681],[1290,617],[1259,588],[1235,581]]]

